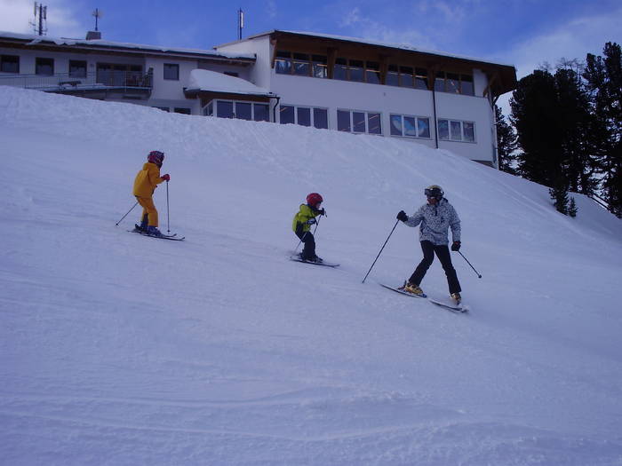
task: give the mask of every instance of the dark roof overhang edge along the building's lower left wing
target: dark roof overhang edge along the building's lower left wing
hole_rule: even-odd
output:
[[[256,59],[249,57],[227,57],[219,53],[204,53],[201,51],[166,51],[154,48],[132,48],[127,45],[108,45],[98,43],[54,43],[53,41],[40,41],[33,43],[31,39],[12,37],[0,37],[0,47],[19,50],[41,50],[70,52],[82,54],[114,55],[117,57],[166,58],[166,59],[191,59],[203,63],[219,63],[249,67],[254,65]]]

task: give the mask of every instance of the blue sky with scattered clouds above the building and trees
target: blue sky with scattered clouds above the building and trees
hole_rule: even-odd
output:
[[[585,59],[607,41],[622,43],[620,0],[44,0],[48,36],[84,37],[92,11],[104,12],[103,38],[209,49],[270,29],[355,36],[491,59],[519,78],[543,62]],[[0,0],[0,30],[31,31],[31,0]]]

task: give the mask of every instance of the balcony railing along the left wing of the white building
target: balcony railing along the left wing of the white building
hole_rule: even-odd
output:
[[[136,71],[99,70],[97,73],[76,75],[57,73],[55,75],[0,75],[0,85],[36,89],[46,92],[109,91],[123,92],[151,91],[153,75]]]

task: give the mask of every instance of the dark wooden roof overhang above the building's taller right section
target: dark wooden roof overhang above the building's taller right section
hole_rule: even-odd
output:
[[[271,32],[270,43],[274,45],[274,52],[278,49],[326,55],[329,67],[334,66],[338,56],[378,61],[381,71],[386,71],[389,64],[426,67],[430,77],[428,80],[430,89],[434,86],[436,71],[472,74],[474,68],[482,70],[488,77],[489,86],[484,95],[491,92],[493,99],[496,99],[516,88],[516,69],[511,65],[452,57],[430,51],[408,50],[390,45],[355,42],[347,38],[310,36],[286,31]],[[275,56],[272,58],[272,66],[274,65]]]

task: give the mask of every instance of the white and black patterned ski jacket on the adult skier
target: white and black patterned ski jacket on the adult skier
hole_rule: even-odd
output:
[[[460,241],[460,219],[456,209],[446,199],[435,205],[422,205],[417,212],[408,217],[404,224],[419,226],[419,241],[432,241],[435,246],[448,244],[448,228],[451,228],[453,241]]]

